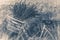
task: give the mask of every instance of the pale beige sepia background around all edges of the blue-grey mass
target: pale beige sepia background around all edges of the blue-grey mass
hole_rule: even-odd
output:
[[[19,0],[20,1],[20,0]],[[15,2],[18,2],[18,0],[0,0],[0,9],[2,8],[3,5],[11,5],[11,4],[14,4]],[[60,20],[60,0],[26,0],[26,3],[33,3],[33,4],[36,4],[37,2],[38,3],[49,3],[51,5],[53,5],[54,7],[58,7],[57,10],[57,16],[54,17],[53,19],[55,20]],[[2,24],[2,21],[4,20],[4,18],[6,17],[6,10],[4,10],[3,12],[0,11],[0,24]],[[60,28],[58,28],[58,37],[60,38]],[[2,38],[0,40],[8,40],[8,36],[7,34],[4,34],[2,36]]]

